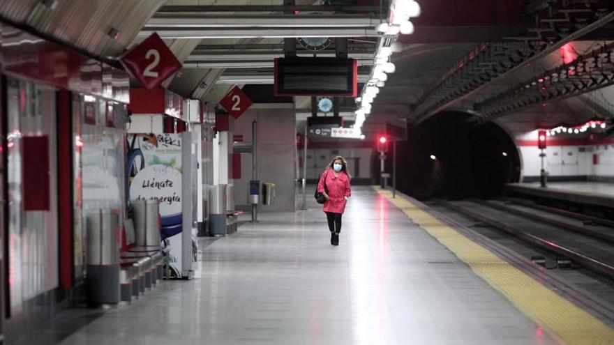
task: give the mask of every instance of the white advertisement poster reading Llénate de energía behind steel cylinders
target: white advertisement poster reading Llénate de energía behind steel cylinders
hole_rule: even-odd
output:
[[[181,277],[181,135],[136,134],[127,141],[128,203],[158,200],[163,246],[170,245],[166,263]]]

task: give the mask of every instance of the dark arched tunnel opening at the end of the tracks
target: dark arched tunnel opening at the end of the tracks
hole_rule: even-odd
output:
[[[521,157],[514,139],[492,121],[475,125],[471,114],[441,112],[408,128],[397,146],[397,187],[417,199],[489,199],[518,182]],[[391,160],[387,160],[391,171]]]

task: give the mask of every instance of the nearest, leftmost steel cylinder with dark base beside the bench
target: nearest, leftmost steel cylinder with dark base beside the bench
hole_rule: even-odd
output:
[[[86,217],[87,302],[119,303],[119,216],[111,210],[98,210]]]

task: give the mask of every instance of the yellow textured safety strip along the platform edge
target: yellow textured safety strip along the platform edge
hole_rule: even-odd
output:
[[[393,199],[388,190],[373,188],[456,254],[458,259],[467,263],[474,273],[500,291],[530,319],[551,330],[566,344],[614,344],[614,330],[599,319],[440,222],[411,201],[403,197]]]

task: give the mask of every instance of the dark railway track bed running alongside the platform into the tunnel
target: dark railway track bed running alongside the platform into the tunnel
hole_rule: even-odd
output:
[[[437,201],[472,220],[614,278],[614,222],[567,210],[507,201]]]

